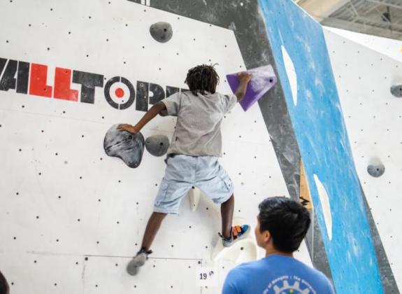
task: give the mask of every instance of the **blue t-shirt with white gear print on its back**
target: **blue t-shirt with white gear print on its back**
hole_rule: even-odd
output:
[[[269,255],[232,269],[223,294],[333,294],[331,282],[322,272],[295,258]]]

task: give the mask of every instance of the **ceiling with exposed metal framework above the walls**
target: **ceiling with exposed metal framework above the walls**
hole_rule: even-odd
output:
[[[402,40],[402,0],[294,0],[322,25]]]

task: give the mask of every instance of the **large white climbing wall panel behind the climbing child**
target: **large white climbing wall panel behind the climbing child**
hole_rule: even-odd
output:
[[[220,92],[226,73],[244,69],[232,31],[117,0],[1,1],[0,57],[48,66],[185,87],[190,67],[218,63]],[[173,38],[158,43],[155,22],[169,22]],[[80,91],[81,86],[71,84]],[[11,293],[217,293],[196,286],[196,267],[213,266],[219,207],[201,200],[192,213],[169,216],[140,275],[125,265],[138,251],[164,174],[164,158],[145,151],[130,169],[103,151],[115,123],[136,123],[134,103],[117,110],[96,87],[94,104],[0,91],[0,270]],[[173,132],[174,118],[156,118],[144,137]],[[255,225],[257,204],[287,195],[278,160],[257,105],[224,119],[222,164],[236,186],[236,216]],[[259,252],[261,254],[261,251]],[[303,245],[298,255],[309,262]]]

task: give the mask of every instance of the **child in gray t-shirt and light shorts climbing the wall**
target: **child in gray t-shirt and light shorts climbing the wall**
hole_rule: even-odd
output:
[[[129,262],[127,272],[135,275],[152,253],[150,246],[167,214],[178,214],[180,202],[193,186],[221,205],[222,242],[231,246],[243,239],[250,227],[232,227],[234,186],[218,162],[222,157],[221,124],[224,115],[245,96],[250,73],[239,73],[235,94],[215,92],[219,76],[213,66],[189,69],[185,83],[188,92],[172,94],[151,107],[136,125],[119,125],[118,130],[136,134],[157,114],[177,116],[175,132],[165,160],[166,170],[155,199],[141,250]]]

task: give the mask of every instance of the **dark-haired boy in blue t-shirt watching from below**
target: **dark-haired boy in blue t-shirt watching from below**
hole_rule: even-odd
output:
[[[232,269],[223,294],[305,293],[333,294],[322,272],[293,258],[310,226],[310,214],[286,197],[267,198],[259,204],[255,236],[266,257]]]

